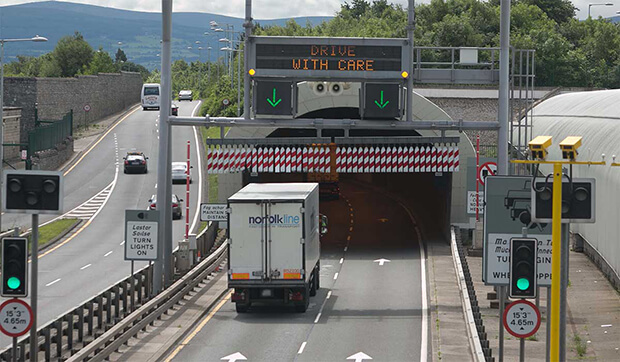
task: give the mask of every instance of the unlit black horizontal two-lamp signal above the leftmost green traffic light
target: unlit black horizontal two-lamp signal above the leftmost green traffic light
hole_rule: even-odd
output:
[[[12,213],[60,214],[63,177],[55,171],[5,171],[4,210]]]

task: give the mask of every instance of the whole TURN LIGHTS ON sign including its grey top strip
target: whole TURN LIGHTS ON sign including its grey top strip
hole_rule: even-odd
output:
[[[125,260],[157,260],[159,211],[125,210]]]

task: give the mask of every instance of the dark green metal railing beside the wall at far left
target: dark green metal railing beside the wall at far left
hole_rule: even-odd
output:
[[[39,121],[38,123],[45,125],[28,132],[30,154],[54,148],[73,135],[73,111],[67,113],[61,120]]]

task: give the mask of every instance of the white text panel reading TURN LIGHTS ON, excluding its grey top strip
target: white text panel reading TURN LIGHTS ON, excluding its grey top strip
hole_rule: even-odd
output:
[[[157,259],[157,222],[127,221],[125,260]]]

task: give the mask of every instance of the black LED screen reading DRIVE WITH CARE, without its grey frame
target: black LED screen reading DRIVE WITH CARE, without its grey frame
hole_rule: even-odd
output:
[[[401,62],[400,46],[256,44],[257,69],[400,72]]]

